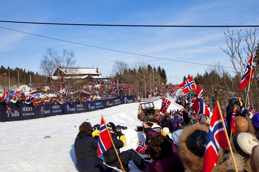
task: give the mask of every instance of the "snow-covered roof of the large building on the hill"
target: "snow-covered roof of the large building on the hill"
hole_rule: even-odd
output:
[[[101,74],[99,72],[96,72],[94,68],[60,68],[64,74],[67,75],[96,75],[96,74]]]

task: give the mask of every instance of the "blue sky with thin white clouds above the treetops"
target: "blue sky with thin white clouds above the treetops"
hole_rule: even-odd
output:
[[[48,23],[135,25],[258,25],[258,0],[8,0],[0,20]],[[226,28],[79,27],[0,23],[0,27],[78,43],[184,61],[231,66],[225,48]],[[114,60],[130,66],[145,62],[165,68],[168,81],[204,73],[203,65],[122,54],[0,29],[1,65],[40,72],[47,48],[73,50],[76,66],[99,67],[109,76]],[[231,69],[228,70],[231,72]],[[176,80],[177,75],[177,80]],[[171,78],[170,78],[171,77]]]

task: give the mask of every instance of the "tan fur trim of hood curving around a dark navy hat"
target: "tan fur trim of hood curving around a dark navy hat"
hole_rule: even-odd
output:
[[[209,133],[209,127],[206,125],[193,124],[185,127],[182,135],[179,138],[179,156],[183,164],[192,172],[201,172],[203,166],[203,157],[198,157],[186,146],[187,137],[195,130],[202,130]]]

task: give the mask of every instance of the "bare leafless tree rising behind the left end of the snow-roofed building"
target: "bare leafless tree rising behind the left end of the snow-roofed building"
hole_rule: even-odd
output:
[[[50,80],[50,84],[54,86],[51,76],[57,70],[57,77],[60,78],[60,67],[73,67],[75,64],[74,52],[63,50],[62,55],[59,55],[58,51],[48,48],[46,55],[40,60],[39,67],[41,72],[47,76]],[[60,79],[59,79],[60,80]],[[54,86],[55,87],[55,86]]]

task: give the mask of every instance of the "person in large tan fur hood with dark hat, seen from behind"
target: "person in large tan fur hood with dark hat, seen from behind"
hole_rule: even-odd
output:
[[[186,167],[185,172],[201,172],[209,126],[192,124],[186,126],[179,138],[179,156]]]

